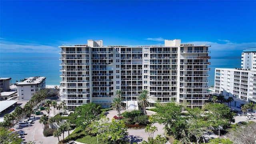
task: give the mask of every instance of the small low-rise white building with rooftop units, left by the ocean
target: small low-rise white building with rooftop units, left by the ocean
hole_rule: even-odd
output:
[[[30,100],[32,95],[38,90],[45,89],[46,77],[35,76],[25,78],[23,82],[17,82],[17,92],[19,100]]]

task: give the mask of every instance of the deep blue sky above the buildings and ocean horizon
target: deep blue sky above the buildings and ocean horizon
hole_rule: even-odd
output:
[[[211,45],[212,58],[256,47],[256,1],[0,0],[0,56],[56,55],[62,44]],[[59,56],[58,56],[59,57]]]

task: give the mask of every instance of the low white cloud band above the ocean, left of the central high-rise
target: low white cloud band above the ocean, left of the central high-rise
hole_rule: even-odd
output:
[[[23,53],[57,53],[58,46],[47,46],[35,43],[16,43],[1,38],[1,52],[23,52]]]

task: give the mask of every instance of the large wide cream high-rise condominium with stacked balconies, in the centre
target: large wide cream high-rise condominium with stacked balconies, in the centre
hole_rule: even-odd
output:
[[[207,45],[165,40],[154,46],[104,46],[102,40],[62,45],[61,85],[69,109],[90,102],[109,108],[116,90],[125,101],[149,91],[149,102],[202,107],[208,100]]]

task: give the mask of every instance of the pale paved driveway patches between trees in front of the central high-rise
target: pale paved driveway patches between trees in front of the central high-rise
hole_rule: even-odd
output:
[[[124,110],[121,110],[121,114],[124,112]],[[148,115],[152,115],[155,114],[155,112],[146,110]],[[110,120],[116,116],[118,114],[118,112],[116,110],[111,110],[106,112],[106,117],[108,117]],[[156,136],[158,134],[160,134],[162,137],[164,136],[164,125],[160,125],[158,123],[153,124],[152,126],[156,126],[158,131],[156,131],[154,133],[154,138],[156,138]],[[131,138],[131,143],[132,142],[137,142],[138,144],[140,144],[143,140],[148,141],[148,133],[145,132],[145,128],[142,129],[131,129],[128,128],[128,140],[129,138]]]

